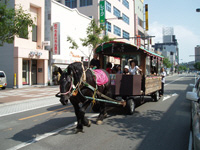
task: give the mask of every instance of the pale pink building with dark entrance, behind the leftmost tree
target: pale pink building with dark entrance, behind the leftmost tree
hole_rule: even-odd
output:
[[[0,70],[5,71],[8,87],[47,85],[48,51],[44,49],[44,0],[10,0],[9,6],[19,5],[31,14],[35,27],[29,27],[28,37],[15,37],[13,44],[0,47]]]

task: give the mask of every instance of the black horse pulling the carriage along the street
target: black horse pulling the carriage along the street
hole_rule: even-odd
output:
[[[107,71],[103,70],[108,77],[108,82],[102,86],[98,86],[98,91],[108,95],[108,91],[110,90],[110,76]],[[82,81],[84,80],[84,75],[86,75],[86,82],[96,88],[96,80],[94,78],[94,74],[90,69],[86,71],[83,68],[81,62],[75,62],[70,64],[65,71],[62,71],[59,68],[59,72],[61,74],[60,78],[60,102],[63,105],[68,103],[68,99],[74,106],[75,114],[77,117],[77,127],[76,132],[82,132],[83,126],[90,127],[91,121],[85,117],[85,110],[91,104],[92,100],[88,100],[85,96],[92,97],[94,95],[94,91],[84,86]],[[74,90],[76,89],[76,90]],[[76,93],[77,92],[77,93]],[[75,95],[73,93],[76,93]],[[97,94],[98,97],[98,94]],[[100,98],[100,97],[98,97]],[[82,106],[80,107],[80,103]],[[97,118],[97,124],[102,124],[103,119],[106,116],[106,108],[105,103],[99,102],[100,104],[100,114]]]

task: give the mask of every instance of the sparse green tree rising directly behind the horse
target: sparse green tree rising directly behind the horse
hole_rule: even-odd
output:
[[[80,40],[82,41],[82,46],[86,46],[86,47],[91,48],[91,52],[88,56],[89,61],[90,61],[90,57],[91,57],[92,52],[94,52],[95,48],[99,44],[114,40],[114,38],[109,38],[108,35],[103,35],[103,37],[101,38],[100,35],[102,34],[102,32],[104,30],[105,30],[105,27],[104,26],[99,27],[96,24],[95,20],[93,19],[90,22],[89,26],[87,27],[87,30],[86,30],[87,37],[86,38],[80,38]],[[72,46],[70,46],[71,49],[78,49],[79,48],[77,43],[70,36],[67,37],[67,41],[72,44]],[[81,52],[84,54],[83,51],[81,51]]]

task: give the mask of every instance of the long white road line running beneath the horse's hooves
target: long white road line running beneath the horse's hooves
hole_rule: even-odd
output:
[[[99,114],[93,114],[93,115],[89,116],[88,118],[91,119],[91,118],[97,117],[98,115],[99,115]],[[28,146],[28,145],[30,145],[30,144],[36,143],[36,142],[38,142],[38,141],[40,141],[40,140],[42,140],[42,139],[45,139],[45,138],[47,138],[47,137],[49,137],[49,136],[58,134],[59,132],[61,132],[61,131],[63,131],[63,130],[69,129],[69,128],[75,126],[76,124],[77,124],[77,122],[71,123],[71,124],[69,124],[69,125],[67,125],[67,126],[65,126],[65,127],[59,128],[59,129],[54,130],[54,131],[49,132],[49,133],[45,133],[45,134],[43,134],[43,135],[41,135],[41,136],[38,136],[38,137],[36,137],[36,138],[34,138],[34,139],[32,139],[32,140],[29,140],[29,141],[27,141],[27,142],[23,142],[23,143],[21,143],[21,144],[19,144],[19,145],[16,145],[16,146],[12,147],[12,148],[9,148],[9,149],[7,149],[7,150],[18,150],[18,149],[20,149],[20,148],[26,147],[26,146]]]

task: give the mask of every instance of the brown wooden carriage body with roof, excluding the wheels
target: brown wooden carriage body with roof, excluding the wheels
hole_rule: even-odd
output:
[[[96,53],[99,54],[99,60],[101,68],[105,69],[105,56],[112,56],[120,58],[120,62],[123,58],[131,56],[139,56],[140,68],[143,70],[141,75],[123,75],[123,74],[110,74],[111,76],[111,90],[115,96],[139,96],[139,95],[151,95],[161,89],[161,76],[159,75],[159,69],[162,66],[163,57],[148,51],[143,48],[137,49],[135,45],[131,45],[124,42],[108,42],[100,45],[96,49]],[[148,59],[147,59],[148,58]],[[153,61],[155,62],[156,75],[150,75],[147,67],[151,66]],[[121,63],[120,63],[121,64]]]

